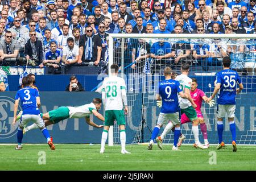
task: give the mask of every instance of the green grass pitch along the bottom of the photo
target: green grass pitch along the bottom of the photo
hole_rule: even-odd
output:
[[[171,151],[171,145],[163,150],[154,145],[149,151],[147,145],[127,145],[131,154],[126,155],[121,154],[120,145],[106,146],[105,154],[100,154],[100,144],[55,146],[51,151],[47,144],[23,144],[22,150],[14,150],[15,145],[1,144],[0,170],[256,170],[256,146],[238,145],[237,152],[232,152],[232,146],[217,151],[214,145],[207,150],[183,145],[180,151]],[[46,164],[39,164],[42,154]]]

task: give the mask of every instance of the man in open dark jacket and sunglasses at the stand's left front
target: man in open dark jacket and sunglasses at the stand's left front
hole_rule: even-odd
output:
[[[29,32],[30,39],[25,44],[24,56],[28,60],[28,64],[43,68],[43,45],[42,42],[36,38],[36,31]]]

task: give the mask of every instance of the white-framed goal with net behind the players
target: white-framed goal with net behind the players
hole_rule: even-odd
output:
[[[164,80],[163,69],[171,67],[173,76],[180,75],[181,64],[190,65],[189,77],[196,78],[199,89],[210,97],[214,90],[217,72],[221,71],[222,58],[230,56],[231,68],[236,70],[244,86],[237,95],[236,117],[237,143],[256,144],[256,35],[237,34],[110,34],[109,66],[118,64],[127,84],[126,143],[149,142],[160,108],[155,94],[158,82]],[[217,98],[214,98],[217,102]],[[207,124],[209,143],[218,143],[217,104],[201,106]],[[225,121],[226,120],[226,121]],[[184,143],[194,143],[192,123],[181,125]],[[164,129],[160,130],[162,133]],[[200,126],[199,126],[200,130]],[[110,144],[119,143],[119,129],[110,132]],[[224,119],[223,139],[232,142],[229,123]],[[203,143],[200,131],[200,142]],[[173,143],[169,133],[163,143]]]

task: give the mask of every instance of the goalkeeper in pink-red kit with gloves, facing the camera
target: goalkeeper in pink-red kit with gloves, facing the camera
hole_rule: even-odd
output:
[[[209,148],[209,142],[208,142],[208,137],[207,137],[207,126],[204,122],[203,114],[201,113],[202,102],[203,102],[203,100],[207,101],[208,97],[205,96],[205,93],[203,92],[203,90],[198,89],[197,86],[198,86],[198,84],[197,84],[196,78],[192,78],[191,93],[190,94],[191,94],[192,100],[197,105],[196,114],[197,114],[197,118],[199,119],[201,131],[203,133],[204,145]],[[214,106],[215,103],[212,100],[211,102],[209,102],[207,104],[209,104],[209,106],[212,107],[212,106]],[[157,105],[160,106],[161,104],[158,102]],[[183,113],[181,115],[180,123],[182,125],[182,124],[187,123],[187,122],[191,122],[191,120],[187,117],[187,115],[185,115],[185,113]],[[174,130],[174,127],[172,128],[172,130]],[[165,137],[165,135],[166,135],[166,133],[163,132],[163,134],[156,139],[156,141],[158,142],[158,147],[161,148],[161,149],[162,149],[162,140]],[[179,142],[177,143],[177,146],[180,146],[184,139],[185,139],[185,136],[180,134]]]

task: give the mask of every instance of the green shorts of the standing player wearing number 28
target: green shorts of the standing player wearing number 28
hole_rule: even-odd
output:
[[[125,125],[125,114],[123,110],[106,110],[105,111],[105,126],[114,125],[114,120],[117,121],[117,125]]]

